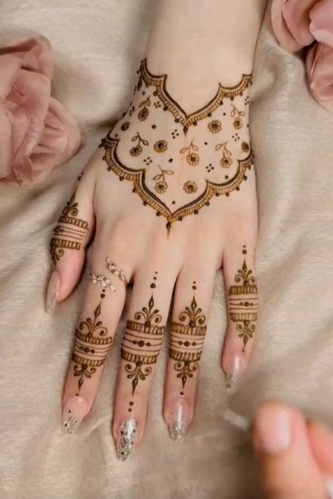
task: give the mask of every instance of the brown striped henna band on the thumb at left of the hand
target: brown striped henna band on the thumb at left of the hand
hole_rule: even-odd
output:
[[[79,204],[75,202],[75,194],[74,192],[70,201],[67,201],[58,224],[53,229],[50,253],[54,264],[64,255],[65,249],[78,251],[81,248],[81,241],[86,238],[89,230],[88,222],[77,218],[79,215]]]

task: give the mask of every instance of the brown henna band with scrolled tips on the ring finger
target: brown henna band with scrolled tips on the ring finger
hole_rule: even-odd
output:
[[[193,288],[196,289],[196,286]],[[169,357],[176,361],[174,370],[178,372],[177,378],[181,378],[184,388],[186,380],[192,378],[199,368],[207,329],[204,326],[206,317],[202,314],[202,309],[197,307],[194,296],[190,307],[185,307],[179,315],[179,320],[188,324],[171,323]]]

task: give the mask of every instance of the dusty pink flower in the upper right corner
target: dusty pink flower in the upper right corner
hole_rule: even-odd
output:
[[[313,44],[306,57],[315,100],[333,111],[333,0],[273,0],[270,27],[289,52]]]

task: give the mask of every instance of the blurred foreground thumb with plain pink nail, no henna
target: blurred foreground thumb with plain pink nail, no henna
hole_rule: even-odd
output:
[[[264,403],[254,420],[254,450],[269,499],[327,498],[306,422],[296,409],[278,402]]]

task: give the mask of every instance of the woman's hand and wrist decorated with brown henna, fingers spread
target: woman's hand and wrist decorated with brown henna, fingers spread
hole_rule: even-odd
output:
[[[206,13],[202,2],[190,2],[192,18],[178,13],[174,0],[160,6],[129,108],[80,175],[51,240],[50,310],[77,283],[84,248],[95,232],[91,279],[63,396],[69,432],[91,409],[126,285],[133,283],[113,421],[122,459],[131,453],[134,438],[143,437],[173,292],[164,419],[174,439],[183,439],[193,417],[216,270],[223,266],[228,300],[223,352],[228,386],[247,366],[258,311],[256,186],[248,129],[252,58],[241,61],[242,68],[221,72],[218,57],[223,67],[226,55],[216,47],[221,2],[211,2]],[[171,34],[165,21],[173,15]],[[196,51],[189,54],[193,42],[187,47],[186,29],[197,35],[203,30],[197,52],[201,48],[207,60],[199,62]],[[188,65],[177,63],[168,44],[164,55],[170,50],[169,57],[157,56],[168,37],[176,37]],[[252,32],[250,39],[255,41]]]

